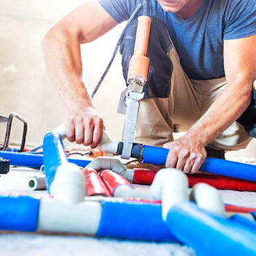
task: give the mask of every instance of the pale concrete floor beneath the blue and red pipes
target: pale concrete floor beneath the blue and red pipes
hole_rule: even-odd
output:
[[[1,174],[0,194],[29,195],[41,198],[48,194],[46,190],[33,191],[28,188],[30,176],[42,176],[37,169],[11,167],[8,174]],[[147,191],[148,186],[136,185],[136,189]],[[256,192],[235,192],[220,190],[224,203],[256,208]],[[57,232],[8,232],[0,231],[1,255],[196,255],[192,248],[181,244],[155,243],[147,241],[129,241],[102,239],[79,234]]]

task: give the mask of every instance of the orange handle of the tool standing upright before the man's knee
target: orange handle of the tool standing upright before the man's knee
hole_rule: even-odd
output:
[[[128,80],[130,77],[143,77],[147,80],[149,69],[149,58],[147,55],[147,45],[149,42],[149,30],[151,20],[147,16],[138,17],[138,26],[134,45],[134,55],[129,62]]]

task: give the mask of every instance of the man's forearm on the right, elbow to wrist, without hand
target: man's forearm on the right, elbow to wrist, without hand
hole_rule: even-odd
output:
[[[208,145],[246,110],[250,104],[252,91],[253,82],[250,79],[230,82],[186,136],[196,138],[204,146]]]

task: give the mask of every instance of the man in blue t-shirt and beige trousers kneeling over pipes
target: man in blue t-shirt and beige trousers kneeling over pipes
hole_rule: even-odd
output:
[[[80,44],[92,42],[129,19],[140,2],[87,1],[44,37],[48,74],[68,109],[68,140],[96,147],[104,127],[82,81]],[[140,104],[136,142],[169,148],[166,166],[194,173],[205,160],[207,145],[226,151],[245,148],[251,140],[235,120],[251,102],[256,77],[256,3],[148,0],[145,5],[138,15],[147,10],[154,18],[152,25],[156,24],[154,33],[157,26],[167,31],[164,37],[170,45],[163,51],[171,61],[170,81],[165,95],[157,82],[155,93],[145,85],[149,93]],[[129,38],[129,32],[127,35]],[[153,39],[152,31],[150,35]],[[162,34],[154,38],[162,46]],[[125,55],[123,66],[127,63],[125,40],[124,36],[120,50]],[[154,64],[152,57],[149,59],[152,80],[156,75],[161,77],[157,69],[163,62]],[[173,140],[174,127],[187,133]]]

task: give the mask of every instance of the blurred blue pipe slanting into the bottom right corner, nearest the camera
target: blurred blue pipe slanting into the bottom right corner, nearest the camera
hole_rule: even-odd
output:
[[[194,203],[183,201],[167,214],[167,226],[196,255],[256,255],[256,233],[237,221],[210,215]]]

